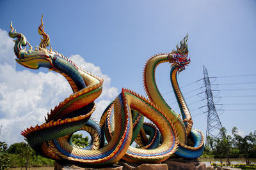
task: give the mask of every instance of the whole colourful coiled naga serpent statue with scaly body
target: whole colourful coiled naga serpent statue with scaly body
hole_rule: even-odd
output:
[[[192,129],[193,121],[177,82],[177,74],[190,62],[188,36],[180,41],[176,50],[154,55],[145,64],[143,82],[147,99],[132,90],[122,89],[97,124],[90,116],[96,107],[94,101],[102,92],[103,80],[77,67],[52,48],[47,49],[50,39],[42,19],[38,28],[42,39],[35,50],[24,35],[13,31],[12,23],[10,27],[9,36],[15,38],[17,62],[30,69],[47,67],[62,74],[74,92],[47,114],[44,124],[22,131],[33,150],[50,159],[88,166],[115,164],[120,159],[159,163],[173,154],[185,159],[202,155],[204,136]],[[24,48],[26,45],[29,50]],[[172,63],[170,77],[182,118],[168,106],[157,89],[156,67],[164,62]],[[143,123],[144,117],[152,123]],[[87,131],[91,135],[89,146],[81,148],[72,143],[71,136],[76,131]],[[140,148],[132,147],[133,141]]]

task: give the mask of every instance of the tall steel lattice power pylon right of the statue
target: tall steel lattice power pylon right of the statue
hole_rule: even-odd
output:
[[[204,84],[205,84],[205,96],[207,99],[207,129],[206,129],[206,139],[208,136],[218,138],[220,129],[222,128],[220,118],[215,108],[213,101],[211,82],[207,73],[207,69],[204,68]],[[206,140],[207,141],[207,140]]]

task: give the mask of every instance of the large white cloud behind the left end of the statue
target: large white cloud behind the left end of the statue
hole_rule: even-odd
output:
[[[29,69],[15,69],[13,41],[0,29],[0,125],[3,125],[0,141],[8,145],[22,141],[20,132],[30,126],[44,123],[44,116],[68,97],[72,90],[67,80],[57,73],[32,73]],[[99,121],[102,111],[118,95],[111,87],[111,78],[102,74],[99,66],[86,62],[81,55],[70,57],[77,65],[104,78],[102,96],[97,100],[93,118]]]

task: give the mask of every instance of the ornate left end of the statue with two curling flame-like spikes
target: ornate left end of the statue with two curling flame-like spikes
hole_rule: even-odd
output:
[[[65,74],[65,77],[69,77],[68,81],[72,80],[72,82],[76,84],[73,86],[75,91],[84,89],[86,85],[82,76],[77,71],[76,64],[71,62],[71,60],[69,60],[67,57],[64,57],[61,53],[53,52],[52,48],[50,50],[47,49],[47,46],[50,44],[50,38],[48,34],[44,32],[42,19],[41,23],[42,24],[39,26],[38,32],[43,36],[43,38],[41,39],[41,43],[38,48],[35,47],[35,50],[33,50],[32,46],[29,45],[26,37],[23,34],[13,31],[11,22],[11,30],[9,31],[9,36],[15,38],[14,52],[17,56],[16,61],[20,65],[28,67],[29,69],[47,67],[52,71],[63,73]],[[26,45],[29,45],[30,47],[28,51],[26,50]]]

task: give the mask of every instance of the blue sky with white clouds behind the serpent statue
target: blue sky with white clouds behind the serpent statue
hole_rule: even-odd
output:
[[[201,99],[196,94],[203,82],[194,83],[203,78],[204,65],[209,76],[217,76],[214,83],[220,84],[214,88],[220,90],[215,95],[221,96],[216,103],[222,103],[225,109],[220,115],[223,126],[228,132],[236,126],[241,134],[256,130],[255,8],[255,0],[0,0],[0,139],[9,144],[21,141],[21,130],[42,123],[47,111],[71,93],[61,76],[15,64],[13,43],[7,36],[10,21],[36,46],[40,43],[37,29],[42,14],[52,48],[106,79],[104,94],[97,100],[96,119],[122,87],[145,96],[142,72],[147,59],[171,52],[188,32],[191,63],[178,78],[180,87],[189,84],[182,91],[191,104],[193,127],[206,132],[207,117],[199,115],[205,110],[196,110],[205,105],[196,102]],[[179,113],[169,74],[169,64],[157,67],[157,85]]]

